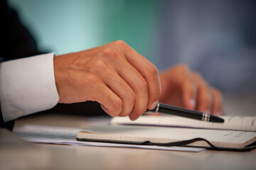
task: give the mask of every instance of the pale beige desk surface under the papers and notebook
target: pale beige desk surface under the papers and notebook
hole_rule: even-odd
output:
[[[57,121],[58,120],[58,121]],[[36,115],[16,121],[85,128],[107,118]],[[4,142],[2,139],[6,139]],[[6,142],[7,141],[7,142]],[[12,142],[10,142],[12,141]],[[18,144],[18,145],[17,145]],[[3,156],[4,155],[4,156]],[[256,150],[199,153],[151,149],[40,145],[23,142],[11,132],[1,132],[0,169],[256,169]]]

